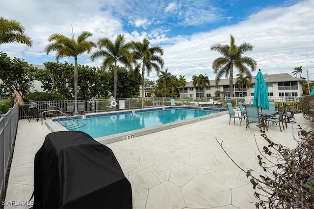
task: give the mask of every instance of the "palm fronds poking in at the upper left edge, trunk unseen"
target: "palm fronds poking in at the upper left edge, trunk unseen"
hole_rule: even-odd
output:
[[[0,17],[0,28],[0,45],[17,42],[32,46],[31,39],[24,34],[25,29],[20,22]]]

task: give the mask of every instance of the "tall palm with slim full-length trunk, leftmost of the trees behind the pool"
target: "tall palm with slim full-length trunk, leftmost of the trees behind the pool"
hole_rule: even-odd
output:
[[[83,31],[78,35],[78,39],[74,40],[74,35],[68,38],[62,34],[54,33],[48,41],[52,42],[46,46],[46,52],[49,54],[51,51],[56,51],[56,60],[58,61],[63,57],[74,57],[74,107],[75,113],[78,113],[77,101],[78,101],[78,55],[87,52],[90,53],[92,47],[96,47],[94,42],[86,41],[88,37],[93,36],[88,31]]]

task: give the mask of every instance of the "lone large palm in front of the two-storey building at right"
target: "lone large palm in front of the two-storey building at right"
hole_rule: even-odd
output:
[[[239,72],[246,75],[251,75],[250,70],[246,66],[248,66],[252,71],[256,70],[256,61],[251,57],[242,56],[244,52],[252,51],[253,46],[248,43],[243,43],[240,46],[236,46],[235,38],[230,35],[230,46],[215,44],[210,46],[210,50],[217,51],[223,55],[222,57],[219,57],[212,62],[212,69],[216,74],[216,86],[218,86],[220,78],[223,75],[226,75],[226,77],[229,75],[230,96],[233,96],[234,67],[237,68]]]

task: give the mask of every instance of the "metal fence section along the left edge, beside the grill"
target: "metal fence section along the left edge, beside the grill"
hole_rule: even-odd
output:
[[[18,119],[18,103],[9,109],[6,114],[0,116],[0,195],[2,195],[5,189],[5,173],[16,136]]]

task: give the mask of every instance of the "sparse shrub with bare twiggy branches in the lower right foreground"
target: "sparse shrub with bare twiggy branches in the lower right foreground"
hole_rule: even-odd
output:
[[[299,139],[294,138],[297,146],[292,150],[274,143],[260,129],[261,136],[268,142],[257,156],[266,172],[264,175],[256,177],[252,170],[245,171],[231,159],[250,178],[256,190],[254,196],[259,200],[255,203],[257,209],[259,206],[263,209],[314,208],[314,133],[300,126],[299,129]],[[223,149],[222,143],[219,145]]]

